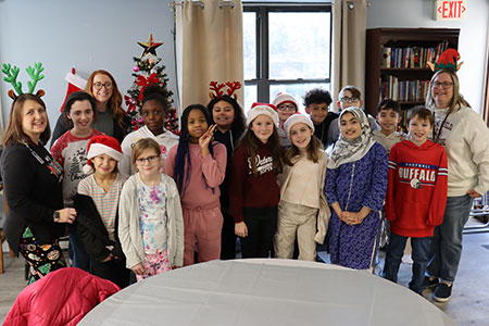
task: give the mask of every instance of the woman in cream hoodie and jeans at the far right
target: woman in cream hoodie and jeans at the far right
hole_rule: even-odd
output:
[[[431,77],[426,106],[435,113],[432,140],[447,151],[449,178],[443,223],[435,228],[425,285],[436,287],[434,300],[447,302],[473,199],[489,189],[489,130],[459,93],[459,78],[451,70],[440,70]]]

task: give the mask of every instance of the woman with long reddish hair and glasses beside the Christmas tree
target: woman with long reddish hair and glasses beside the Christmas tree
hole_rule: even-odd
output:
[[[122,142],[129,131],[130,118],[121,106],[122,95],[114,77],[106,71],[95,71],[88,77],[85,91],[91,95],[97,102],[97,118],[91,126]],[[70,124],[64,114],[61,114],[54,127],[51,146],[68,129]]]

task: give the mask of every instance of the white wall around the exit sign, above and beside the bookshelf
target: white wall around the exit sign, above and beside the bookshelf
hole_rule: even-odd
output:
[[[489,1],[468,0],[464,21],[435,21],[435,0],[368,0],[367,28],[460,28],[459,52],[464,62],[457,75],[461,92],[477,112],[481,111],[487,61]]]

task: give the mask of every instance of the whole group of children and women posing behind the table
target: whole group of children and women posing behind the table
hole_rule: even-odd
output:
[[[321,89],[304,96],[306,115],[287,93],[246,117],[236,97],[214,97],[184,110],[178,137],[164,128],[165,92],[145,90],[145,126],[128,134],[114,78],[93,72],[66,100],[51,152],[42,100],[14,100],[0,161],[4,230],[30,283],[66,266],[66,225],[72,265],[121,287],[130,271],[139,280],[235,259],[236,236],[242,258],[291,259],[297,243],[309,261],[327,239],[331,263],[372,271],[385,215],[383,276],[397,281],[411,238],[410,288],[450,299],[472,200],[489,189],[489,133],[452,71],[435,73],[409,135],[398,133],[397,102],[381,101],[375,118],[347,86],[338,113]]]

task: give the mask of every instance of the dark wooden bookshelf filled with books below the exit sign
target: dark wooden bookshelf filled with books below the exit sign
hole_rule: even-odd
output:
[[[444,48],[457,49],[459,35],[457,28],[367,29],[365,110],[376,116],[383,98],[399,101],[403,110],[423,104],[425,83],[432,76],[426,61],[436,60]]]

